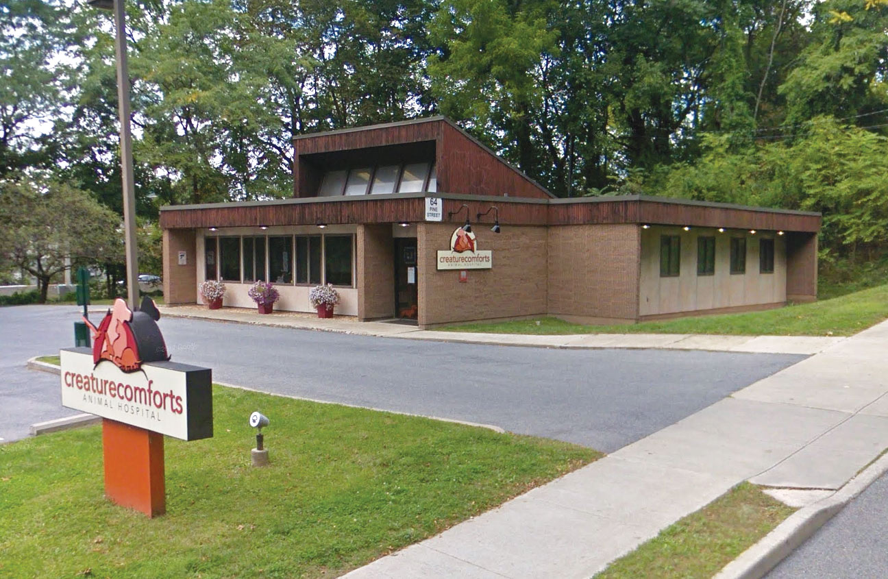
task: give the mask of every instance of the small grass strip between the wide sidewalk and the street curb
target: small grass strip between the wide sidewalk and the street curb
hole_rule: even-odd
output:
[[[595,577],[711,577],[795,511],[743,482]]]

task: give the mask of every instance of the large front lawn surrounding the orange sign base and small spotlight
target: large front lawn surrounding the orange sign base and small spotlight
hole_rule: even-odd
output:
[[[215,386],[166,441],[167,514],[103,497],[99,427],[0,445],[0,576],[337,576],[599,457],[483,428]],[[250,412],[272,464],[250,467]]]

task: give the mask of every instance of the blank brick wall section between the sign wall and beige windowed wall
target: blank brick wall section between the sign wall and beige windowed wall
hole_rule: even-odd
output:
[[[549,313],[575,319],[638,317],[639,227],[550,227]]]

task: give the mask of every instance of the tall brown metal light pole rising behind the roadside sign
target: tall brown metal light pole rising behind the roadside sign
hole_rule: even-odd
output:
[[[117,52],[117,110],[120,115],[120,164],[123,180],[123,235],[126,244],[126,289],[130,309],[139,307],[139,246],[136,244],[136,189],[132,178],[130,133],[130,75],[126,66],[124,0],[87,0],[93,8],[114,11]]]

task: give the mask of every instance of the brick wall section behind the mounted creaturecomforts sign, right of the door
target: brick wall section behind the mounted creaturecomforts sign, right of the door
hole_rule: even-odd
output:
[[[438,271],[438,250],[447,250],[453,224],[416,226],[419,259],[419,324],[540,315],[546,312],[546,228],[475,226],[479,250],[493,251],[492,269]]]

